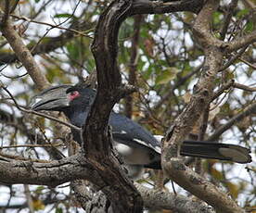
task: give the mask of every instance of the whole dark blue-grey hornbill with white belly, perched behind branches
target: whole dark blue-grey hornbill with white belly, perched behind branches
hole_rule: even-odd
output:
[[[96,97],[96,90],[89,85],[59,85],[46,89],[32,98],[33,110],[64,112],[71,124],[83,127],[84,121]],[[113,147],[122,157],[128,168],[161,169],[160,142],[146,129],[125,116],[111,112],[109,116]],[[80,134],[72,130],[73,139],[81,144]],[[229,160],[237,163],[250,163],[250,149],[236,144],[184,141],[181,156],[204,157]],[[138,170],[139,170],[138,169]],[[132,174],[133,176],[133,174]]]

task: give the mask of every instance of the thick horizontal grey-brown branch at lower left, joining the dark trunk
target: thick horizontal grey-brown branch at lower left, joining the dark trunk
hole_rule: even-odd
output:
[[[37,163],[0,157],[0,182],[56,186],[64,182],[86,179],[99,187],[105,184],[82,155]]]

